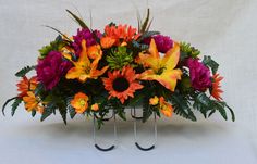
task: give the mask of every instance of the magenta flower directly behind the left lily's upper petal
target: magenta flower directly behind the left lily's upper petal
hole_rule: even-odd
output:
[[[101,33],[99,30],[95,30],[94,31],[96,37],[100,38],[101,37]],[[94,38],[94,34],[86,28],[82,28],[82,29],[77,29],[77,34],[76,36],[73,36],[74,42],[72,43],[76,55],[81,54],[82,51],[82,40],[85,39],[86,40],[86,46],[93,46],[96,45],[96,40]]]

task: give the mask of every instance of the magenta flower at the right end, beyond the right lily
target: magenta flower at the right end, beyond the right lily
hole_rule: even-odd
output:
[[[186,65],[189,68],[192,87],[199,91],[205,91],[211,87],[210,71],[196,59],[188,59]]]

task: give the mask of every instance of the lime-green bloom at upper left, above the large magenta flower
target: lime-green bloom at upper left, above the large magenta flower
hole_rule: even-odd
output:
[[[61,36],[58,36],[54,41],[51,41],[50,45],[42,47],[39,51],[39,59],[44,59],[50,51],[59,51],[61,48],[65,46]]]

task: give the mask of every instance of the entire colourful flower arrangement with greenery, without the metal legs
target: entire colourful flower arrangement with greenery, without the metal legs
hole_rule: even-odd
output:
[[[39,50],[36,65],[15,74],[21,77],[19,93],[4,103],[3,114],[13,101],[12,115],[24,102],[32,116],[41,114],[41,121],[57,111],[65,124],[68,114],[95,114],[99,127],[110,110],[126,119],[127,106],[142,108],[143,122],[154,113],[195,122],[194,111],[205,117],[218,111],[228,119],[227,109],[235,119],[221,98],[219,64],[211,56],[201,60],[189,43],[150,30],[149,10],[137,28],[110,23],[103,31],[68,12],[81,25],[77,33],[69,37],[50,27],[60,35]],[[34,70],[36,75],[27,77]]]

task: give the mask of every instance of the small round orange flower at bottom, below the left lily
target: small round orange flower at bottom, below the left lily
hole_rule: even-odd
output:
[[[84,113],[88,108],[88,97],[83,93],[78,92],[75,94],[74,99],[71,101],[71,105],[75,109],[76,113]]]

